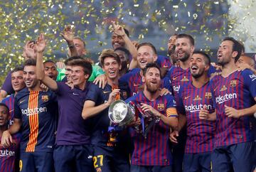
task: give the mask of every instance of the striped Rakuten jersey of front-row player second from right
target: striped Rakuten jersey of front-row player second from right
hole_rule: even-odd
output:
[[[210,82],[203,87],[197,88],[188,82],[181,87],[178,93],[177,110],[186,114],[187,139],[186,153],[202,153],[213,150],[215,135],[215,122],[199,119],[199,112],[206,106],[213,113],[213,99],[210,92]]]

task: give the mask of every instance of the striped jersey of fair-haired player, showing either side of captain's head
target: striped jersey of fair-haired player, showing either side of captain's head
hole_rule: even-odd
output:
[[[142,82],[142,75],[140,75],[141,70],[136,70],[134,72],[129,72],[123,75],[119,81],[127,83],[129,87],[130,97],[136,95],[138,92],[144,89],[144,84]],[[161,88],[166,88],[172,92],[171,81],[169,77],[164,77],[161,80]]]

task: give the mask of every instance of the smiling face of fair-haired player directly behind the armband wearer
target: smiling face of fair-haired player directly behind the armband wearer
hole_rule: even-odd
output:
[[[138,65],[139,68],[144,69],[146,67],[146,64],[148,63],[154,63],[157,59],[157,55],[154,54],[154,51],[149,45],[141,46],[138,49]]]

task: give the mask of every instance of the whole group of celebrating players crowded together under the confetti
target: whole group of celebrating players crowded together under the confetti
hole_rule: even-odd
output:
[[[255,61],[240,42],[224,38],[215,64],[191,35],[171,36],[165,57],[112,28],[99,64],[70,26],[64,63],[43,61],[43,33],[26,43],[1,87],[0,171],[256,170]],[[135,107],[122,126],[117,100]]]

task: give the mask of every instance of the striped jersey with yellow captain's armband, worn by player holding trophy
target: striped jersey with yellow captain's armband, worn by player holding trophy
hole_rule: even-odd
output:
[[[167,117],[177,117],[176,102],[170,94],[159,96],[154,101],[148,100],[143,92],[139,92],[133,97],[129,97],[125,102],[134,104],[149,104]],[[134,144],[132,152],[132,165],[139,166],[167,166],[171,164],[171,148],[169,146],[170,128],[161,120],[156,122],[149,129],[146,138],[130,128],[130,135]]]

